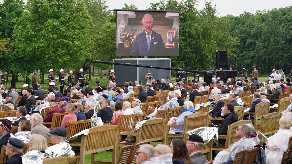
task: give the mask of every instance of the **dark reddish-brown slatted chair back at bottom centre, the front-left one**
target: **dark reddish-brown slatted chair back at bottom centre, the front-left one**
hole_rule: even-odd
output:
[[[133,154],[135,154],[135,147],[135,145],[122,147],[117,164],[131,164],[134,157]]]

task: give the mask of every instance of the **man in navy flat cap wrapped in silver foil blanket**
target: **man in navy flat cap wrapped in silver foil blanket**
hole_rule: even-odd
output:
[[[65,128],[54,128],[50,131],[50,134],[52,134],[51,139],[53,146],[50,146],[45,150],[45,158],[75,155],[70,144],[66,142],[67,131]]]

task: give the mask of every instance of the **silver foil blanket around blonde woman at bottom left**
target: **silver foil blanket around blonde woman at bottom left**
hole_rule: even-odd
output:
[[[44,153],[38,150],[32,150],[21,156],[21,160],[23,164],[39,164],[43,162],[44,156]]]

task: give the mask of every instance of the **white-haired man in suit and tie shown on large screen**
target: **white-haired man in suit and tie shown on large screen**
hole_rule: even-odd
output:
[[[152,30],[153,24],[152,16],[148,13],[145,14],[142,19],[145,31],[137,35],[131,50],[131,56],[164,55],[165,47],[162,37]]]

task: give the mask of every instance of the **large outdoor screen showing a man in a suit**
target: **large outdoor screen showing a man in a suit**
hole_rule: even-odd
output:
[[[116,13],[117,55],[178,55],[178,11],[117,10]]]

